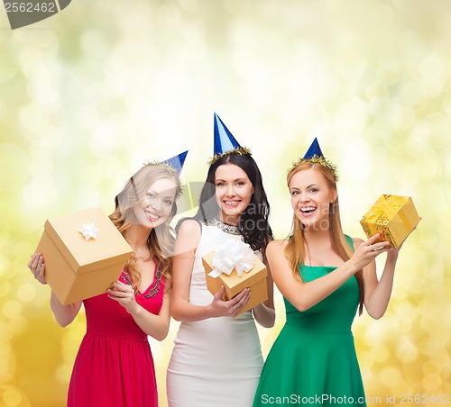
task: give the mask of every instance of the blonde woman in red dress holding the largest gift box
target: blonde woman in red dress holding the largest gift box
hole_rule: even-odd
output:
[[[69,407],[156,407],[155,369],[148,335],[162,340],[170,325],[170,221],[177,213],[179,177],[170,167],[142,167],[115,197],[111,221],[133,249],[122,276],[105,294],[61,305],[51,293],[51,311],[65,327],[85,307],[87,332],[69,384]],[[44,259],[28,267],[46,284]]]

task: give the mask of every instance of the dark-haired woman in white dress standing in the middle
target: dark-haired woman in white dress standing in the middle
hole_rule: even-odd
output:
[[[213,159],[198,214],[179,223],[171,314],[181,324],[167,374],[170,407],[249,407],[263,365],[254,320],[267,328],[275,320],[271,273],[268,300],[235,318],[249,301],[249,289],[230,301],[222,300],[224,287],[216,295],[207,290],[203,255],[241,237],[266,264],[272,240],[260,170],[248,149],[233,147]]]

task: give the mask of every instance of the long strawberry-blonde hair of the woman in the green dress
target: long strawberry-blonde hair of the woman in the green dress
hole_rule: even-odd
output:
[[[293,167],[287,175],[287,185],[290,187],[291,178],[297,174],[299,171],[313,168],[320,172],[326,179],[327,185],[332,190],[336,191],[336,175],[328,167],[322,166],[318,163],[312,162],[301,162],[296,167]],[[341,221],[340,221],[340,207],[338,204],[338,195],[336,195],[336,200],[334,203],[329,205],[329,232],[330,240],[332,242],[332,249],[336,254],[342,258],[344,261],[349,260],[353,256],[353,249],[349,246],[349,243],[345,239],[345,234],[343,233]],[[306,247],[307,241],[304,235],[304,228],[302,223],[293,214],[293,221],[290,233],[290,239],[285,248],[285,256],[288,258],[291,270],[295,278],[303,281],[302,276],[299,273],[299,266],[304,264],[304,258],[306,258]],[[355,274],[355,279],[360,289],[360,299],[359,299],[359,315],[362,314],[364,309],[364,274],[362,270],[357,271]]]

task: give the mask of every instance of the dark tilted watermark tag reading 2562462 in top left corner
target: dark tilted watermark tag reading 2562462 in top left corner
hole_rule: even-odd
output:
[[[71,0],[4,0],[11,28],[21,28],[51,17],[66,8]]]

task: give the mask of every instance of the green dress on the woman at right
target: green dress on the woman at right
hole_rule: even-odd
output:
[[[352,245],[347,236],[346,240]],[[299,272],[308,282],[335,269],[300,266]],[[253,407],[365,406],[364,384],[351,332],[359,303],[355,277],[305,312],[283,300],[287,321],[263,366]]]

